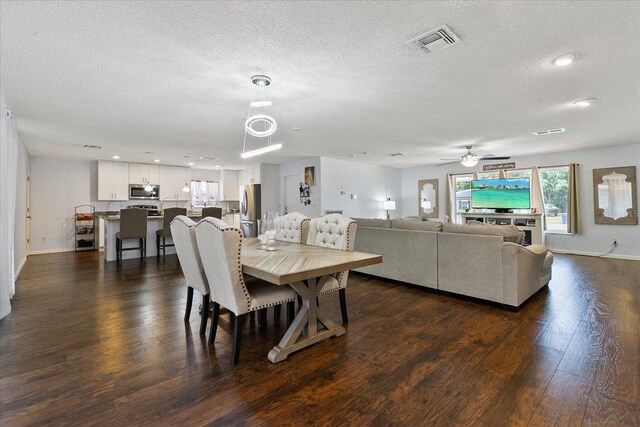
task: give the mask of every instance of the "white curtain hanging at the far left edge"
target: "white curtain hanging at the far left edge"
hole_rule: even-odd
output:
[[[11,313],[11,298],[16,292],[14,243],[16,222],[16,185],[18,181],[18,138],[16,122],[4,98],[0,118],[0,319]]]

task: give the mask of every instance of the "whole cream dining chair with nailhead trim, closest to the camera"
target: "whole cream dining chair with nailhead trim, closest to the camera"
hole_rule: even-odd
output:
[[[296,293],[289,286],[277,286],[265,281],[247,280],[242,273],[242,231],[224,221],[205,217],[195,226],[198,251],[211,289],[213,314],[209,343],[213,343],[218,328],[220,305],[231,313],[233,321],[233,351],[235,365],[240,358],[242,327],[248,313],[293,302]]]

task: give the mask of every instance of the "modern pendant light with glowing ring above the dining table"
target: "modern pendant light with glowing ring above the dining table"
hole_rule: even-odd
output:
[[[271,144],[271,135],[278,129],[276,120],[268,114],[271,101],[266,99],[266,87],[271,84],[271,78],[262,74],[251,77],[251,83],[255,85],[247,120],[244,123],[244,144],[242,147],[243,159],[258,156],[270,151],[279,150],[282,144]],[[254,138],[267,138],[267,145],[255,150],[247,151],[247,135]]]

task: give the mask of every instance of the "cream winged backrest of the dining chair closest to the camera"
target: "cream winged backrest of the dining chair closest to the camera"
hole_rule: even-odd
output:
[[[202,218],[195,229],[212,299],[237,315],[248,313],[251,296],[242,275],[242,231],[211,217]]]

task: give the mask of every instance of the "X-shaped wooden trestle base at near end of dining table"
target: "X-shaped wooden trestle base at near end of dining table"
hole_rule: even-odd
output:
[[[291,287],[302,297],[302,308],[278,345],[269,352],[268,358],[273,363],[285,360],[294,351],[346,333],[343,326],[336,325],[318,307],[318,280],[310,279],[306,282],[291,284]],[[318,331],[318,322],[324,329]]]

